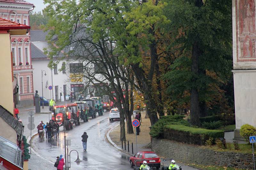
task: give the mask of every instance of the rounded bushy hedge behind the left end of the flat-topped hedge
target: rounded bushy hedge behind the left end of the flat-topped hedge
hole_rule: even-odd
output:
[[[183,124],[189,126],[188,121],[183,118],[183,115],[168,115],[160,117],[160,119],[151,127],[149,134],[153,138],[164,138],[164,126],[167,124]]]

